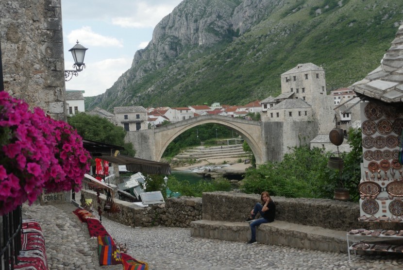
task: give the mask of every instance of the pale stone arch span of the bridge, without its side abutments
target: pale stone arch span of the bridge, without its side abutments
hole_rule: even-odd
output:
[[[266,153],[262,150],[262,145],[264,145],[262,122],[220,115],[199,116],[172,123],[170,125],[154,128],[155,160],[159,161],[161,159],[162,154],[167,149],[168,145],[177,136],[190,128],[207,123],[220,124],[236,131],[238,134],[242,135],[242,137],[251,147],[251,150],[256,158],[256,163],[262,164],[266,161]]]

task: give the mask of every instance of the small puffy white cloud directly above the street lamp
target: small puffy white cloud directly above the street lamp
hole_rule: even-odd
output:
[[[83,26],[80,29],[72,30],[67,35],[69,43],[74,44],[77,39],[85,46],[99,47],[123,47],[123,42],[115,37],[97,34],[92,31],[91,27]]]

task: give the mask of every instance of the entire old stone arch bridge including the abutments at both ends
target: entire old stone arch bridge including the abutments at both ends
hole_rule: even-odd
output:
[[[204,115],[148,130],[131,131],[125,141],[133,143],[136,157],[160,161],[173,139],[190,128],[207,123],[226,126],[241,135],[251,147],[257,164],[281,160],[289,147],[309,142],[318,130],[312,122],[265,122]]]

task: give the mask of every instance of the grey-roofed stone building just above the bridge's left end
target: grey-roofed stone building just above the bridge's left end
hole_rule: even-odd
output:
[[[148,129],[147,110],[143,106],[115,107],[113,109],[115,123],[126,131]]]

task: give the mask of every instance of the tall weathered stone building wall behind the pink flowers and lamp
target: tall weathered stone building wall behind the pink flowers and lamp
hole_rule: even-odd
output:
[[[0,40],[4,90],[65,120],[60,1],[0,1]]]

